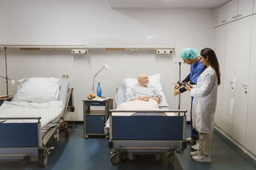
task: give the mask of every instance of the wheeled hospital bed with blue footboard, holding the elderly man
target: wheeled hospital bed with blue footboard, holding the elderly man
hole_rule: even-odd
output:
[[[118,85],[116,106],[124,101],[124,85]],[[113,148],[110,160],[118,164],[122,159],[132,160],[136,154],[156,154],[156,159],[168,152],[167,163],[173,164],[175,150],[186,148],[186,110],[122,110],[122,116],[113,116],[120,110],[109,110],[109,148]],[[124,113],[136,116],[124,116]],[[172,113],[163,116],[161,113]],[[176,113],[176,114],[173,114]],[[182,114],[180,114],[182,113]]]

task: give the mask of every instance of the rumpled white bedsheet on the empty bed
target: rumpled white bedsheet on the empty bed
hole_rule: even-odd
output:
[[[47,129],[44,129],[47,124],[60,117],[63,111],[62,101],[51,101],[49,103],[29,103],[18,101],[4,101],[0,106],[0,117],[41,117],[41,129],[44,134]],[[38,122],[38,120],[7,120],[4,123],[22,123],[22,122]]]

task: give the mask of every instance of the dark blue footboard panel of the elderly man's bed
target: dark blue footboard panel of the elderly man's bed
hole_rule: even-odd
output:
[[[113,140],[184,140],[186,117],[111,117]]]

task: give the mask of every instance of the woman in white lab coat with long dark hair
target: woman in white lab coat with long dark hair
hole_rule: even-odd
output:
[[[193,160],[211,162],[211,141],[214,127],[214,112],[217,103],[217,89],[220,85],[220,66],[215,52],[204,48],[200,52],[200,62],[205,70],[198,77],[195,87],[189,84],[185,89],[190,90],[194,97],[192,108],[193,127],[199,132],[200,150],[191,152]]]

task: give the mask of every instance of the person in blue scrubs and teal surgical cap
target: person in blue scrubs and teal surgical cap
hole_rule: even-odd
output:
[[[182,81],[182,82],[189,82],[191,85],[196,85],[198,76],[203,72],[204,66],[200,62],[200,57],[198,50],[195,48],[185,48],[180,52],[180,58],[184,60],[187,64],[191,65],[190,67],[190,74]],[[185,92],[186,89],[184,87],[180,88],[179,85],[175,85],[174,87],[174,96],[177,96],[180,93]],[[192,106],[193,106],[193,98],[191,97],[191,136],[186,139],[187,141],[198,141],[198,132],[193,127],[193,119],[192,119]],[[199,150],[199,143],[197,142],[196,145],[191,146],[194,150]]]

